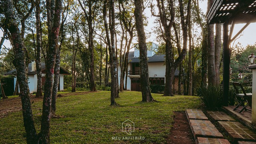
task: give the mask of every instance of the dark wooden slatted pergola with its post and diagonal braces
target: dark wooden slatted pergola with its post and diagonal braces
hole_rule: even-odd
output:
[[[223,99],[228,106],[230,43],[253,22],[256,22],[256,0],[215,0],[208,15],[208,24],[223,23]],[[232,37],[235,24],[246,24]],[[229,29],[230,28],[230,29]]]

